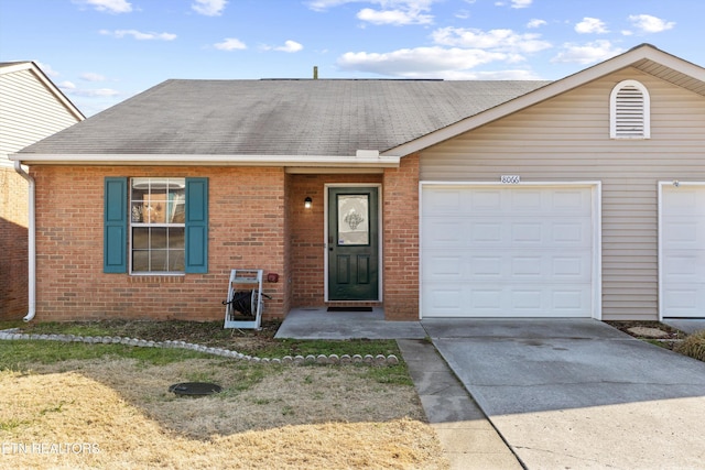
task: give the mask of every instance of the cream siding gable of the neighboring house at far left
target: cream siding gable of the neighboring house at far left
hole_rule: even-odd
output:
[[[0,159],[78,119],[30,70],[0,74]]]

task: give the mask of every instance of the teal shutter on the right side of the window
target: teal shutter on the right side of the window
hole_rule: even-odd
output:
[[[186,272],[208,272],[208,178],[186,178]]]

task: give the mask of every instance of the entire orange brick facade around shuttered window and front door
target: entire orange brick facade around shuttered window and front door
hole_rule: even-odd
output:
[[[264,317],[324,305],[326,184],[381,184],[383,306],[389,319],[419,316],[419,164],[384,174],[285,174],[283,168],[35,166],[37,320],[218,320],[230,269],[280,275],[264,283]],[[106,176],[208,177],[208,273],[106,274]],[[313,207],[304,208],[311,197]],[[335,303],[334,303],[335,304]],[[368,303],[367,305],[378,305]]]

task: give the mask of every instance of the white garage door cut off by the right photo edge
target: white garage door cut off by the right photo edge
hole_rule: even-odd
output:
[[[663,185],[661,316],[705,318],[705,186]]]

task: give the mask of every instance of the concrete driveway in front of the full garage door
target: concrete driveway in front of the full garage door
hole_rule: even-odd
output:
[[[422,325],[527,468],[705,469],[705,363],[596,320]]]

